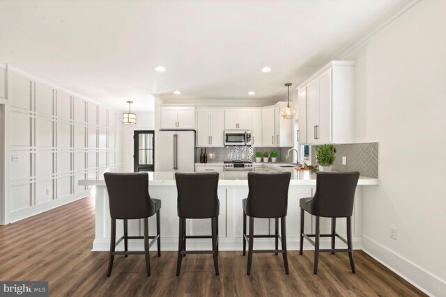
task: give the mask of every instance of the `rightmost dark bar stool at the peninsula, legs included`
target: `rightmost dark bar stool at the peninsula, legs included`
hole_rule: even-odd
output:
[[[353,202],[355,190],[360,172],[318,172],[316,177],[316,193],[313,197],[300,199],[300,255],[304,246],[303,239],[307,239],[314,246],[314,274],[318,273],[319,252],[348,252],[350,257],[351,271],[355,273],[355,262],[353,260],[353,247],[351,244],[351,215],[353,213]],[[316,216],[316,234],[304,233],[304,214]],[[332,218],[332,233],[320,234],[319,217]],[[336,218],[347,220],[347,240],[336,233]],[[310,239],[314,237],[314,241]],[[319,238],[331,237],[332,248],[320,249]],[[334,240],[341,239],[347,248],[335,248]]]

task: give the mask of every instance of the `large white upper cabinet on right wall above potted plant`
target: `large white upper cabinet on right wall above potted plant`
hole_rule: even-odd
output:
[[[307,93],[307,139],[302,138],[300,127],[300,144],[354,141],[354,71],[354,61],[332,61],[298,86],[300,117],[305,90]]]

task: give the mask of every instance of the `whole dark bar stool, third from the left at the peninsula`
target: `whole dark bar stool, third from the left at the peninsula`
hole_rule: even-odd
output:
[[[289,274],[288,257],[286,255],[285,217],[288,207],[288,188],[291,172],[248,173],[248,198],[243,199],[243,255],[246,255],[248,241],[247,275],[251,273],[252,253],[282,253],[286,274]],[[246,234],[246,216],[249,216],[249,235]],[[254,235],[254,218],[275,218],[274,235]],[[281,234],[279,235],[279,218]],[[275,250],[253,250],[254,238],[275,238]],[[279,238],[282,239],[282,250],[279,250]]]

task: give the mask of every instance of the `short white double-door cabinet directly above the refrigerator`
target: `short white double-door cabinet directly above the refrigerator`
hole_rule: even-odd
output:
[[[195,129],[194,106],[160,106],[160,129]]]

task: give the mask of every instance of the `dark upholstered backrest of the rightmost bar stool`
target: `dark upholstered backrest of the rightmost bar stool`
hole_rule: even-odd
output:
[[[316,193],[308,202],[308,212],[332,218],[351,216],[359,177],[357,171],[318,172]]]

